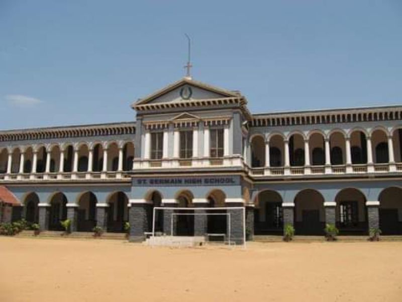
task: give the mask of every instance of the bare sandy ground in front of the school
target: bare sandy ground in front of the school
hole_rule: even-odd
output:
[[[0,301],[402,301],[402,242],[150,248],[0,237]]]

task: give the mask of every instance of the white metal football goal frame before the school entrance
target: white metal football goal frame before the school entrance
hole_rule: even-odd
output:
[[[165,206],[156,206],[153,208],[153,214],[152,214],[152,237],[155,237],[155,217],[156,217],[156,211],[161,210],[163,213],[164,210],[186,210],[186,211],[194,211],[193,213],[172,213],[171,215],[171,221],[170,221],[170,234],[173,236],[173,217],[177,215],[221,215],[221,216],[227,216],[228,220],[228,242],[229,245],[231,245],[231,215],[232,213],[226,212],[226,213],[195,213],[197,210],[202,210],[202,211],[218,211],[218,210],[242,210],[243,212],[243,245],[244,247],[246,246],[246,209],[245,207],[242,206],[234,206],[234,207],[165,207]]]

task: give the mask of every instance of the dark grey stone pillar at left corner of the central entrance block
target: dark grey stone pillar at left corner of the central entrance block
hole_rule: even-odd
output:
[[[129,208],[130,242],[145,240],[144,232],[151,232],[152,205],[148,203],[132,203]]]

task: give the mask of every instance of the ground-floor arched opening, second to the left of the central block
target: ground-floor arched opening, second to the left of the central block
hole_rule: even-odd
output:
[[[92,192],[81,194],[78,199],[77,231],[92,232],[96,225],[96,196]]]

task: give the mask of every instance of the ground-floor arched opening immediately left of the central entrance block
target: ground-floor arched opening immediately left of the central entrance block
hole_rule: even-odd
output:
[[[108,207],[108,232],[124,232],[124,223],[128,221],[128,202],[126,193],[115,192],[109,199]]]

